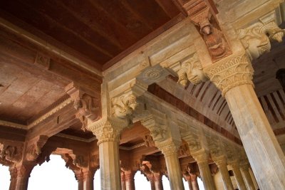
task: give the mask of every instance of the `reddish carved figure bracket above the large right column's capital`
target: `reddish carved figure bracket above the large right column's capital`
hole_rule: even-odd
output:
[[[199,33],[204,39],[213,62],[229,56],[232,53],[209,7],[199,11],[199,13],[194,16],[190,16],[190,19],[199,29]]]

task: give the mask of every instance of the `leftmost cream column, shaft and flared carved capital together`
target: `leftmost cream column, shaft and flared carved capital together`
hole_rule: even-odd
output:
[[[108,117],[88,126],[98,139],[101,189],[120,190],[119,137],[128,121]]]

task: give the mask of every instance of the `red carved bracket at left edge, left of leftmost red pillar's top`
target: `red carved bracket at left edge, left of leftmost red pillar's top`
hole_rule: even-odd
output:
[[[9,144],[1,144],[0,146],[0,159],[4,162],[20,162],[22,159],[22,147],[12,146]]]

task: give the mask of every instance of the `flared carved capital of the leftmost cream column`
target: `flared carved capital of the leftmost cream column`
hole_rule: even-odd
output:
[[[102,142],[119,142],[120,132],[128,125],[128,120],[107,117],[88,125],[88,130],[97,137],[99,145]]]

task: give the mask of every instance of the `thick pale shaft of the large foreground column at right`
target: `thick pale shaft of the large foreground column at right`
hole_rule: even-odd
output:
[[[261,189],[285,189],[285,158],[252,85],[226,95],[247,157]]]

